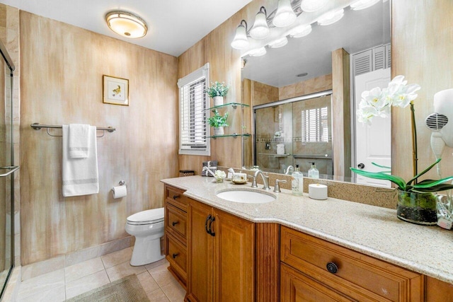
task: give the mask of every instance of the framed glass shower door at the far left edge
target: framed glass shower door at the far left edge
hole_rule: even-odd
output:
[[[13,71],[14,64],[0,41],[0,298],[14,265]]]

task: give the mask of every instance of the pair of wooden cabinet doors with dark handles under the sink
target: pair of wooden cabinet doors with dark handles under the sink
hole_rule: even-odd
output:
[[[186,301],[255,301],[255,223],[188,199]]]

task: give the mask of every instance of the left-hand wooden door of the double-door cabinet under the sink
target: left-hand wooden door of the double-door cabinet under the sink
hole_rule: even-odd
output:
[[[188,205],[188,300],[212,301],[213,237],[206,232],[211,207],[189,199]],[[209,224],[209,221],[208,221]]]

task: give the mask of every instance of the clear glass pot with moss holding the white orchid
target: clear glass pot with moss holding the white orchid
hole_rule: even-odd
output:
[[[437,223],[437,195],[398,190],[398,219],[425,226]]]

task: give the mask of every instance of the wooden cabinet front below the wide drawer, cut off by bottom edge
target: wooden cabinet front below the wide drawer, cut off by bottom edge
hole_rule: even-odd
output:
[[[353,301],[323,284],[283,264],[280,266],[280,301]]]

